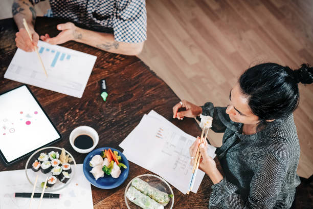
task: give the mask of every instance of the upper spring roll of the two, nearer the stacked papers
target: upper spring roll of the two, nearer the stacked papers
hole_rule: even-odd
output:
[[[150,198],[164,206],[166,206],[167,203],[170,201],[170,198],[167,193],[161,192],[157,188],[150,186],[147,182],[141,180],[140,178],[133,179],[131,185],[140,192],[142,192],[143,194],[149,196]]]

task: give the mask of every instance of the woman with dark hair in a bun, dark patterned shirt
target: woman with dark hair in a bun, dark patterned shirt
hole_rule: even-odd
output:
[[[298,83],[313,82],[313,68],[292,70],[265,63],[246,70],[231,89],[230,104],[203,107],[181,101],[173,117],[213,117],[212,130],[224,132],[216,149],[223,173],[200,144],[199,168],[212,180],[209,208],[290,208],[300,184],[300,146],[293,112],[299,103]],[[186,111],[180,111],[186,108]],[[190,148],[195,157],[199,138]],[[193,162],[191,162],[193,164]]]

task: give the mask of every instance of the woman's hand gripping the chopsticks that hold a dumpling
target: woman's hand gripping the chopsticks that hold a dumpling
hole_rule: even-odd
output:
[[[189,149],[189,153],[191,157],[194,157],[194,159],[191,159],[190,164],[193,165],[198,145],[200,144],[200,138],[197,137],[197,139],[193,142]],[[200,144],[200,150],[199,154],[202,155],[200,158],[199,163],[199,169],[205,172],[212,180],[214,184],[220,182],[223,179],[223,176],[220,174],[220,172],[216,168],[216,163],[212,157],[210,157],[207,153],[208,150],[208,142],[205,140],[204,143]]]

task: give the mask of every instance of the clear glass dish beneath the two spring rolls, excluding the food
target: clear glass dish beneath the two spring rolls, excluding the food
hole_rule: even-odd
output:
[[[173,208],[173,205],[174,205],[174,193],[173,193],[173,190],[171,188],[171,186],[161,177],[159,176],[156,176],[156,175],[153,175],[153,174],[143,174],[143,175],[140,175],[140,176],[137,176],[135,178],[140,178],[141,180],[144,180],[146,181],[147,183],[149,183],[150,186],[153,186],[155,188],[157,188],[158,190],[162,191],[162,192],[165,192],[169,195],[172,195],[173,197],[170,198],[170,201],[169,203],[164,206],[164,209],[172,209]],[[133,178],[133,179],[135,179]],[[129,186],[131,186],[131,182],[132,180],[129,181],[129,183],[127,184],[126,186],[126,189],[125,189],[125,193],[124,193],[124,199],[125,199],[125,203],[126,203],[126,206],[128,209],[141,209],[140,206],[132,203],[127,197],[126,197],[126,192],[129,188]]]

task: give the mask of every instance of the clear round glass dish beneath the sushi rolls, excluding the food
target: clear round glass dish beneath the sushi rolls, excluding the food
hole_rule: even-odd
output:
[[[57,148],[57,147],[46,147],[46,148],[41,148],[37,151],[35,151],[27,160],[26,165],[25,165],[25,173],[26,173],[26,178],[27,180],[34,185],[35,180],[36,180],[36,176],[38,175],[38,180],[36,183],[36,188],[39,190],[42,190],[40,184],[41,182],[46,181],[46,178],[49,177],[51,175],[51,172],[47,173],[47,174],[43,174],[41,171],[38,172],[34,172],[32,170],[32,164],[33,162],[38,158],[38,156],[40,155],[40,153],[46,153],[48,155],[49,152],[54,151],[54,152],[58,152],[59,154],[61,154],[62,148]],[[66,183],[62,183],[59,180],[57,180],[57,182],[55,183],[54,186],[52,187],[47,187],[46,188],[46,192],[55,192],[55,191],[59,191],[61,189],[63,189],[65,186],[67,186],[68,184],[71,183],[72,179],[74,178],[74,174],[75,174],[75,169],[76,169],[76,161],[73,157],[73,155],[71,155],[71,153],[69,153],[68,151],[65,150],[65,155],[70,155],[70,157],[73,159],[73,161],[70,163],[71,164],[71,168],[72,168],[72,173],[70,174],[70,179],[68,180],[68,182]]]

